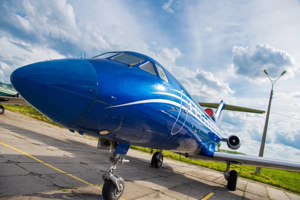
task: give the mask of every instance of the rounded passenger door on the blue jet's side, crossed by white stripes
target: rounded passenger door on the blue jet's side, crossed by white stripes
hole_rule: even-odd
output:
[[[189,102],[183,90],[181,90],[180,96],[181,96],[180,108],[179,109],[177,107],[172,108],[172,111],[178,111],[178,116],[171,129],[171,134],[176,134],[182,129],[188,114]]]

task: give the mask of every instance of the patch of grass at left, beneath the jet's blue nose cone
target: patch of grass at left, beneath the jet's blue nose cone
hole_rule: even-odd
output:
[[[52,125],[63,128],[62,125],[52,121],[51,119],[49,119],[48,117],[46,117],[45,115],[43,115],[42,113],[37,111],[37,109],[35,109],[34,107],[29,106],[29,105],[5,105],[5,109],[8,109],[8,110],[14,111],[14,112],[18,112],[18,113],[24,114],[26,116],[30,116],[32,118],[35,118],[35,119],[38,119],[41,121],[45,121]]]

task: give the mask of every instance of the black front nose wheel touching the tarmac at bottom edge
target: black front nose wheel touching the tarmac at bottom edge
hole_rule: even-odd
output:
[[[106,179],[102,188],[102,196],[106,200],[117,200],[123,194],[125,188],[125,181],[119,175],[114,176],[118,179],[120,183],[120,192],[117,191],[115,184],[111,180]]]

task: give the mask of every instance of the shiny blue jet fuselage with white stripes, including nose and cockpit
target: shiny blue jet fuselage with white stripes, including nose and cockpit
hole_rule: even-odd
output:
[[[35,108],[70,130],[212,156],[222,134],[178,80],[146,55],[109,53],[26,65],[11,74],[11,83]],[[139,62],[118,60],[121,53]]]

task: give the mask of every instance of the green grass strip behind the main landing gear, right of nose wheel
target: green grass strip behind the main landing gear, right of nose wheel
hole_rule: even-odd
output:
[[[133,146],[133,145],[131,145],[130,148],[150,153],[150,148]],[[234,152],[236,153],[236,151]],[[186,158],[184,157],[184,155],[181,155],[181,158],[179,158],[179,154],[173,153],[168,150],[163,150],[163,156],[173,160],[178,160],[189,164],[195,164],[198,166],[214,169],[221,172],[224,172],[226,169],[225,163],[194,160],[194,159]],[[259,174],[259,173],[255,173],[256,167],[244,166],[244,165],[237,165],[237,166],[242,168],[239,173],[239,177],[273,185],[300,194],[300,173],[299,172],[261,168],[261,173]]]

